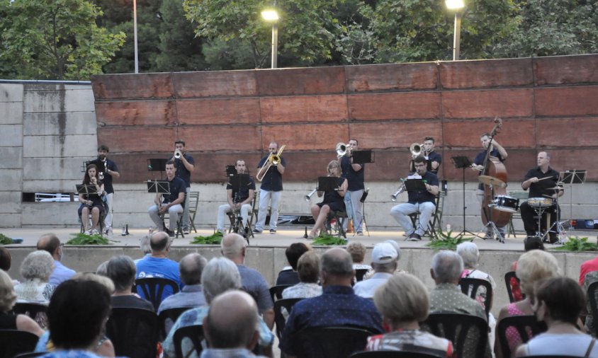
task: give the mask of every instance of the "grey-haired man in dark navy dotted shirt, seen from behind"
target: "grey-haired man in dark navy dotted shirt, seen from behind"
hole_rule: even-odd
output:
[[[293,355],[300,330],[329,325],[351,325],[383,333],[382,319],[371,299],[354,294],[351,279],[355,272],[351,255],[343,248],[327,250],[320,260],[323,293],[293,306],[282,333],[280,348]]]

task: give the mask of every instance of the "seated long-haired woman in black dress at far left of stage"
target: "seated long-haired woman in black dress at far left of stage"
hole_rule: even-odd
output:
[[[98,167],[95,164],[89,164],[85,171],[83,178],[83,185],[93,185],[96,187],[96,192],[93,194],[79,194],[79,217],[81,224],[83,224],[83,231],[86,235],[96,235],[100,233],[98,221],[100,214],[105,212],[102,196],[104,194],[104,185],[98,179]],[[89,213],[91,212],[91,228],[89,225]]]

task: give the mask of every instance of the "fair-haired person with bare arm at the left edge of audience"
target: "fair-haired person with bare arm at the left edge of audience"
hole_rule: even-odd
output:
[[[12,312],[15,301],[13,281],[9,274],[0,270],[0,330],[24,330],[34,335],[42,335],[44,331],[33,319]]]

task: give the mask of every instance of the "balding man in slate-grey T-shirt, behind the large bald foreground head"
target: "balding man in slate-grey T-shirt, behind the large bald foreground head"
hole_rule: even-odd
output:
[[[270,288],[266,279],[257,270],[243,265],[245,250],[247,250],[245,245],[243,236],[240,236],[238,233],[229,233],[222,238],[222,256],[237,264],[237,268],[241,274],[243,291],[252,295],[257,302],[259,313],[264,317],[264,322],[272,329],[274,325],[274,304],[270,296]]]

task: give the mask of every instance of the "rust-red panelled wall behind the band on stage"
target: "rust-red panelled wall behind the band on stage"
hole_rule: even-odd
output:
[[[436,138],[441,177],[461,180],[451,156],[473,158],[479,136],[504,120],[509,180],[550,151],[558,170],[598,166],[598,55],[305,69],[116,74],[92,79],[98,142],[121,182],[148,178],[146,159],[187,142],[194,182],[219,182],[244,158],[252,173],[269,142],[286,144],[288,181],[325,174],[337,142],[359,139],[376,163],[366,180],[405,176],[407,150]],[[468,171],[468,180],[475,173]]]

